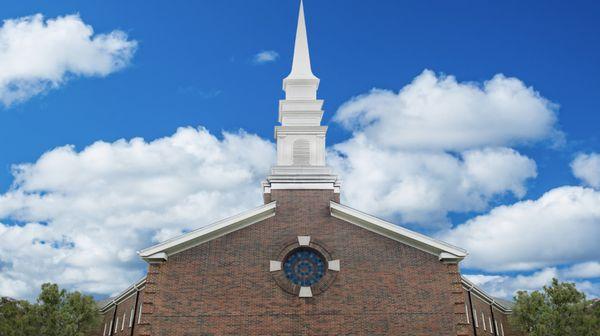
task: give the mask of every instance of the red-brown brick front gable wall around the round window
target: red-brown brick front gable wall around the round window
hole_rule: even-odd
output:
[[[139,335],[468,335],[457,265],[331,217],[333,192],[270,198],[275,217],[150,265]],[[308,299],[269,273],[299,235],[341,260]]]

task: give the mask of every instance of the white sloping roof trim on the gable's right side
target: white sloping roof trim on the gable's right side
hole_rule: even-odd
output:
[[[368,215],[356,209],[330,202],[331,216],[357,225],[363,229],[378,233],[382,236],[396,240],[437,256],[444,262],[459,262],[467,256],[467,251],[437,240],[418,232],[414,232],[383,219]]]

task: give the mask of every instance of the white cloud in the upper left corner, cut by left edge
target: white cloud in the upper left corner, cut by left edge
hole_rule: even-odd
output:
[[[71,76],[107,76],[129,64],[136,46],[120,30],[94,35],[79,15],[5,20],[0,27],[0,102],[8,106],[27,100]]]

